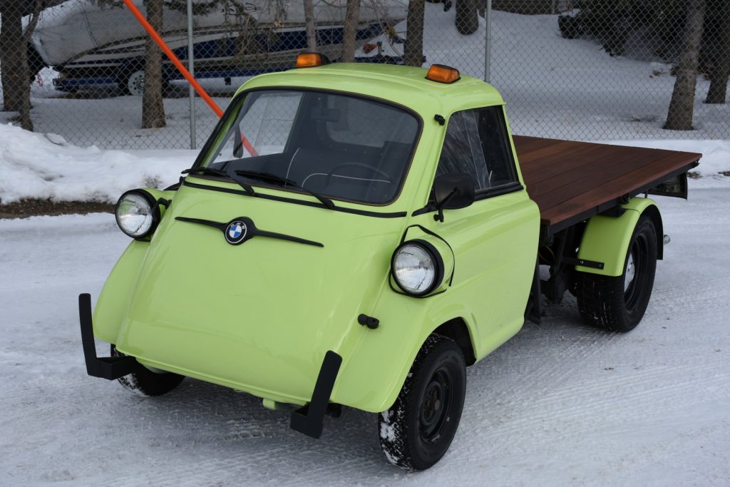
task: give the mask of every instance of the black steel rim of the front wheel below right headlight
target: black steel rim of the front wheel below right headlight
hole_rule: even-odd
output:
[[[425,442],[439,439],[451,413],[453,377],[446,367],[439,367],[426,385],[418,408],[420,437]]]

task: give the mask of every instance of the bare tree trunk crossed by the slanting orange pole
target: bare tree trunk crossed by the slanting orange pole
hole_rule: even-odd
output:
[[[163,0],[145,0],[147,20],[155,31],[162,31]],[[145,93],[142,95],[142,129],[165,126],[162,99],[162,51],[152,37],[145,43]]]

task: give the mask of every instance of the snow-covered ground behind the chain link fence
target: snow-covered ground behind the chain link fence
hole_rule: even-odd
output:
[[[454,27],[455,9],[426,4],[424,53],[427,64],[456,66],[483,77],[485,23],[469,36]],[[405,23],[396,26],[404,35]],[[661,60],[611,57],[596,42],[564,39],[556,15],[493,12],[491,82],[507,101],[517,134],[566,139],[720,139],[730,138],[730,104],[702,103],[709,82],[697,83],[695,131],[661,129],[675,78]],[[385,54],[400,55],[402,44],[383,42]],[[362,54],[362,53],[359,53]],[[372,53],[374,54],[374,53]],[[174,82],[166,91],[164,129],[139,129],[142,97],[120,96],[114,89],[69,94],[55,91],[53,77],[42,72],[32,89],[37,131],[60,134],[75,145],[115,148],[189,147],[188,88]],[[202,80],[220,107],[245,78]],[[13,114],[0,112],[0,122]],[[215,115],[196,100],[197,144],[215,125]]]

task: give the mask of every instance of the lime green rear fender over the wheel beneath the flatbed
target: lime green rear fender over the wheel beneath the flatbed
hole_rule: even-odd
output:
[[[603,269],[575,266],[575,270],[612,277],[623,275],[631,235],[634,234],[639,217],[645,212],[656,228],[657,257],[661,259],[664,256],[664,228],[656,202],[650,198],[632,198],[628,203],[622,204],[621,208],[626,212],[618,217],[594,215],[589,218],[580,240],[578,258],[602,262]]]

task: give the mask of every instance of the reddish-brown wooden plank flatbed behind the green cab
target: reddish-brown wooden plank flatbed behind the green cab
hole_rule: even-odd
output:
[[[677,150],[520,135],[513,139],[527,192],[540,210],[544,237],[682,175],[702,157]]]

